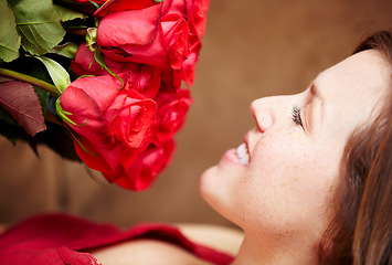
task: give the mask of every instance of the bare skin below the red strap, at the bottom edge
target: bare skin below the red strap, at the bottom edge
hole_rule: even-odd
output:
[[[141,239],[99,248],[92,253],[105,265],[208,265],[181,247],[157,240]]]

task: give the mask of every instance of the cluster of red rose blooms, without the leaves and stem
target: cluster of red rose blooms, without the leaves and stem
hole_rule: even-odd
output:
[[[191,104],[180,86],[193,83],[209,1],[108,0],[94,13],[109,71],[82,43],[72,70],[96,76],[73,82],[57,106],[80,158],[109,182],[145,190],[170,162]]]

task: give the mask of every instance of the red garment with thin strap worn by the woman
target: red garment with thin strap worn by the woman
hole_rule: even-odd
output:
[[[167,224],[139,224],[121,231],[64,214],[45,214],[28,219],[0,235],[0,264],[98,265],[88,252],[140,237],[170,242],[214,264],[233,261],[227,254],[189,241]]]

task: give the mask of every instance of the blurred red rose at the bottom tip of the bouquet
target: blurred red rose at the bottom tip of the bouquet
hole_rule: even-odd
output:
[[[151,144],[144,152],[138,155],[131,167],[123,169],[126,178],[117,179],[116,184],[136,191],[148,189],[158,173],[170,163],[173,152],[173,140],[166,141],[161,146]]]

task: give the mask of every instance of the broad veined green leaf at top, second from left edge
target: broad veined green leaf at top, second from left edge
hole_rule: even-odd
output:
[[[22,46],[33,55],[51,51],[64,38],[52,0],[8,0],[22,36]]]

